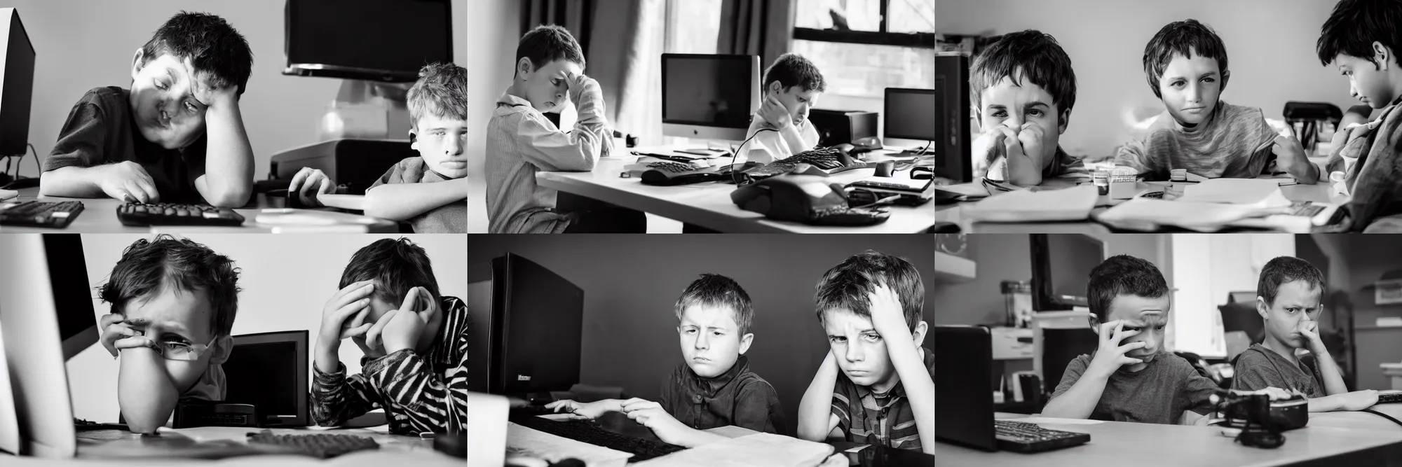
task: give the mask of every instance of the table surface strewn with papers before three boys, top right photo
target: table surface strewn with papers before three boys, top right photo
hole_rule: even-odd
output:
[[[1087,182],[1089,183],[1089,182]],[[1169,182],[1140,182],[1140,190],[1150,189],[1152,186],[1168,185]],[[1189,185],[1189,183],[1172,183],[1172,185]],[[1049,180],[1043,183],[1042,189],[1063,189],[1074,186],[1063,180]],[[1333,187],[1328,182],[1319,182],[1315,185],[1286,185],[1280,187],[1280,193],[1291,201],[1315,201],[1315,203],[1342,203],[1345,197],[1333,193]],[[1123,203],[1123,200],[1110,200],[1109,196],[1101,196],[1095,203],[1096,208],[1091,211],[1092,215],[1105,211],[1112,204]],[[958,224],[965,234],[1110,234],[1110,228],[1103,224],[1085,220],[1077,222],[1022,222],[1022,224],[1001,224],[1001,222],[976,222],[969,215],[963,214],[963,208],[972,204],[955,203],[944,204],[935,207],[935,220],[939,222],[953,222]]]

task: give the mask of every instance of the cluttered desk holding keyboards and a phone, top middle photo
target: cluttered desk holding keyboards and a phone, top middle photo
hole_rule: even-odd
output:
[[[624,150],[620,148],[620,152]],[[747,234],[920,234],[935,225],[934,204],[906,207],[890,206],[890,218],[871,227],[817,227],[765,220],[763,214],[739,208],[730,201],[735,186],[707,182],[683,186],[642,185],[637,178],[620,178],[624,166],[638,161],[638,155],[600,158],[592,172],[538,172],[540,186],[587,196],[621,207],[652,213],[681,222],[690,222],[721,232]],[[723,164],[728,158],[712,161]],[[851,183],[872,176],[875,169],[855,169],[831,176],[833,183]],[[896,173],[908,176],[910,171]]]

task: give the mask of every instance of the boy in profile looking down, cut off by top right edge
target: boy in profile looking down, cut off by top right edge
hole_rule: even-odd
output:
[[[1363,126],[1340,127],[1326,164],[1336,192],[1349,196],[1347,232],[1399,232],[1402,221],[1402,4],[1343,0],[1319,28],[1319,63],[1333,63],[1349,77],[1349,92],[1378,116]]]

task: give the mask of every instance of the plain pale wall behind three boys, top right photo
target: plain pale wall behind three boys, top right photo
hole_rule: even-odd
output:
[[[1126,112],[1164,106],[1143,71],[1144,45],[1159,28],[1193,18],[1227,45],[1231,81],[1223,99],[1281,119],[1286,101],[1357,105],[1349,81],[1315,56],[1319,27],[1335,1],[1325,0],[939,0],[939,34],[997,35],[1040,29],[1071,56],[1077,103],[1061,145],[1075,155],[1112,155],[1129,131]]]

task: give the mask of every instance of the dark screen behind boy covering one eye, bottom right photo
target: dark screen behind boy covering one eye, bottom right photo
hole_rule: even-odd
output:
[[[1091,270],[1105,260],[1105,242],[1081,234],[1032,234],[1032,309],[1089,306]]]

